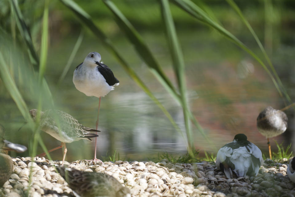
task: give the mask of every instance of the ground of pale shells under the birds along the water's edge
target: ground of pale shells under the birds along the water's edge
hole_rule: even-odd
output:
[[[68,183],[55,171],[61,161],[30,157],[13,158],[14,173],[0,188],[0,196],[20,197],[29,192],[32,197],[73,196]],[[288,161],[286,161],[287,163]],[[100,172],[115,177],[137,196],[295,196],[295,184],[286,175],[287,165],[266,160],[256,177],[226,179],[212,162],[169,163],[116,161],[93,163],[78,160],[65,162],[82,171]],[[32,181],[29,175],[32,168]]]

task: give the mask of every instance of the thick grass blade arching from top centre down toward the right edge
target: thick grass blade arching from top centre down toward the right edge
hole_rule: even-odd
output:
[[[278,93],[281,97],[282,93],[281,90],[274,79],[273,75],[271,74],[270,70],[265,66],[265,64],[262,62],[262,60],[252,51],[250,48],[248,48],[244,43],[242,43],[238,38],[236,38],[233,34],[231,34],[228,30],[226,30],[224,27],[219,25],[217,22],[214,22],[206,12],[204,12],[199,6],[197,6],[195,3],[191,2],[190,0],[173,0],[176,5],[178,5],[180,8],[182,8],[187,13],[191,14],[193,17],[197,18],[201,22],[204,22],[206,25],[213,27],[216,29],[220,34],[224,35],[226,38],[228,38],[230,41],[234,42],[236,45],[238,45],[240,48],[245,50],[247,53],[249,53],[256,61],[263,67],[263,69],[266,71],[266,73],[271,78],[274,86],[276,87]]]

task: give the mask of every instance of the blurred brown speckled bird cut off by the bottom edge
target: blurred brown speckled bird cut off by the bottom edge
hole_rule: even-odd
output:
[[[69,183],[69,187],[82,197],[131,197],[130,190],[110,175],[62,166],[57,166],[57,171]]]

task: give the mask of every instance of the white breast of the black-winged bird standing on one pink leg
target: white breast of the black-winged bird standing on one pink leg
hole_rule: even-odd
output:
[[[74,71],[73,83],[77,90],[87,96],[105,96],[113,89],[96,67],[83,64]]]

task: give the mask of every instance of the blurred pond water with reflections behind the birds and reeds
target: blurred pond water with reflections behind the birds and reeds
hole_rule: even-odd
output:
[[[164,35],[154,35],[156,39],[153,39],[151,33],[143,34],[143,36],[155,52],[165,74],[176,86],[170,55],[165,48]],[[224,38],[204,40],[206,32],[200,32],[198,36],[194,33],[182,33],[179,36],[186,61],[189,105],[210,139],[210,142],[207,142],[198,130],[192,127],[195,147],[200,150],[200,155],[203,155],[204,150],[216,154],[220,147],[231,142],[234,135],[238,133],[246,134],[248,140],[256,144],[267,155],[267,141],[257,131],[256,118],[259,112],[268,105],[275,108],[283,107],[281,98],[268,75],[249,55]],[[192,37],[196,39],[189,39]],[[171,154],[185,153],[187,140],[183,139],[159,107],[128,77],[100,43],[96,46],[91,45],[93,42],[91,35],[87,35],[84,39],[62,84],[56,86],[56,81],[76,38],[71,36],[52,44],[45,78],[53,92],[56,108],[71,114],[80,123],[92,128],[95,128],[98,98],[87,97],[75,89],[72,82],[73,70],[89,52],[97,51],[101,54],[104,63],[120,80],[120,86],[101,98],[98,158],[106,158],[114,151],[116,151],[116,159],[118,159],[117,153],[120,153],[120,160],[148,160],[166,151]],[[114,42],[140,78],[166,107],[185,135],[182,108],[163,89],[126,40],[117,38]],[[284,54],[285,50],[290,49],[282,45],[279,50],[281,52],[273,57],[274,63],[276,58],[280,59],[280,55]],[[290,81],[285,80],[288,82],[287,88],[289,85],[292,86]],[[18,131],[24,119],[3,88],[3,84],[0,85],[2,106],[0,123],[6,127],[6,139],[29,146],[32,132],[27,126]],[[25,98],[30,108],[37,108],[29,95]],[[286,134],[273,139],[278,143],[289,144],[291,138],[288,134],[292,131],[291,128]],[[41,136],[48,149],[60,145],[59,141],[44,132],[41,132]],[[273,139],[271,139],[271,145],[273,151],[277,151]],[[94,152],[93,147],[94,143],[86,140],[67,144],[66,160],[91,159]],[[38,147],[37,152],[39,154],[43,151]],[[28,156],[28,152],[11,155]],[[51,156],[53,159],[61,160],[62,152],[61,150],[54,151]]]

